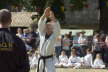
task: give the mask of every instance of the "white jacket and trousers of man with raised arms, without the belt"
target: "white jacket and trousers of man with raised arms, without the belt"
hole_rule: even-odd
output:
[[[53,33],[52,35],[45,41],[45,24],[46,24],[46,18],[43,16],[40,18],[38,23],[38,30],[40,35],[40,55],[42,56],[49,56],[54,54],[54,45],[56,43],[57,37],[60,35],[60,25],[59,22],[56,21],[53,25]],[[54,66],[54,59],[49,58],[46,59],[46,72],[55,72],[55,66]],[[40,67],[39,72],[42,72],[43,70],[43,60],[40,61]]]

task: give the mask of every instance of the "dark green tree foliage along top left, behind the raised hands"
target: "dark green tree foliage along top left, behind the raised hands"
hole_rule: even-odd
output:
[[[47,6],[51,6],[57,18],[63,19],[64,14],[61,10],[61,6],[63,6],[62,2],[63,0],[0,0],[0,8],[11,10],[11,7],[15,6],[21,10],[24,7],[28,12],[37,11],[41,15]]]

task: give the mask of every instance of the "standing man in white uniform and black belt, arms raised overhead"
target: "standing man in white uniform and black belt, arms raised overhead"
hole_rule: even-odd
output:
[[[48,19],[50,19],[49,22]],[[38,30],[40,35],[40,58],[37,72],[55,72],[53,54],[55,51],[54,45],[60,34],[60,25],[50,7],[45,9],[40,18]]]

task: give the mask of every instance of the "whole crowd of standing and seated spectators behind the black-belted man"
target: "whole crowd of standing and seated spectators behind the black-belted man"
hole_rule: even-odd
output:
[[[32,29],[18,28],[19,36],[28,51],[30,67],[38,65],[39,35]],[[54,60],[56,67],[63,68],[106,68],[108,67],[108,35],[102,32],[86,36],[85,32],[78,32],[58,37],[55,44]]]

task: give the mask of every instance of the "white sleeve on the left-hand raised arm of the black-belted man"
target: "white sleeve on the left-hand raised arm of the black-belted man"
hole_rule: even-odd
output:
[[[45,23],[46,23],[47,18],[45,18],[44,16],[42,16],[39,19],[38,22],[38,31],[39,33],[42,35],[45,32]]]

